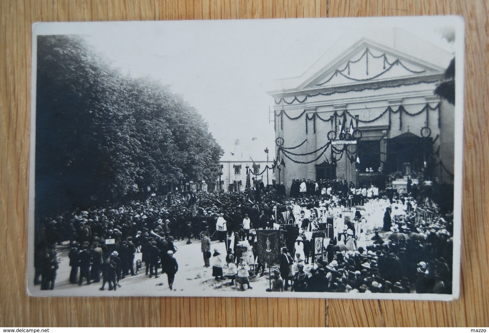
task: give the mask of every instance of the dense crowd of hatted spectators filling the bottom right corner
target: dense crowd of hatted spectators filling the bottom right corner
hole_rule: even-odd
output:
[[[331,263],[316,261],[308,291],[450,293],[451,250],[446,233],[430,233],[424,241],[393,239],[336,252]]]

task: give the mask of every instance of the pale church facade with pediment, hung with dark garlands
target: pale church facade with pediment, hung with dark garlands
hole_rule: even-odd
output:
[[[269,91],[276,156],[285,164],[276,178],[288,189],[292,178],[453,182],[454,106],[433,92],[453,54],[426,50],[431,61],[361,39]]]

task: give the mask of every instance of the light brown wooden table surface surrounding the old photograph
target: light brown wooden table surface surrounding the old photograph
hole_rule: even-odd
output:
[[[461,15],[466,89],[461,295],[453,302],[27,296],[31,24]],[[489,326],[488,1],[1,0],[0,326]]]

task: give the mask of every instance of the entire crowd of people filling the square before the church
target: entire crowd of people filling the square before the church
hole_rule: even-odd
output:
[[[166,273],[172,289],[178,271],[174,242],[201,238],[203,266],[212,266],[213,277],[252,289],[252,277],[266,274],[253,230],[278,228],[284,230],[284,246],[267,291],[451,292],[453,216],[440,213],[432,189],[426,188],[433,184],[413,184],[405,196],[346,180],[294,179],[289,197],[283,184],[255,186],[245,192],[171,193],[45,219],[36,230],[34,282],[54,289],[56,246],[69,241],[71,284],[95,282],[102,283],[101,290],[106,284],[116,290],[120,280],[145,271],[149,278]],[[322,222],[333,208],[379,202],[387,206],[372,229],[357,227],[367,226],[361,223],[365,212],[357,210],[353,221],[334,228],[328,244],[314,252],[311,232],[325,230],[328,223]],[[360,233],[369,234],[365,244]],[[211,242],[225,242],[224,257]],[[137,252],[142,252],[140,264],[134,263]]]

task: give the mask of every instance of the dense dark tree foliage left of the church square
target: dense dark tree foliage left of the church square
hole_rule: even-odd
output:
[[[168,87],[122,75],[75,35],[39,36],[37,56],[37,208],[218,177],[221,147]]]

